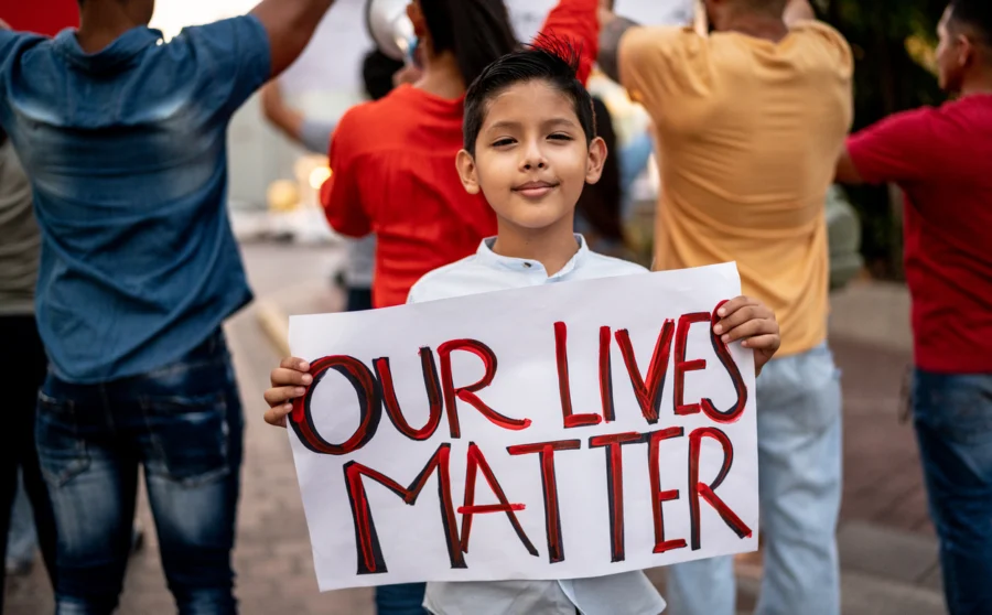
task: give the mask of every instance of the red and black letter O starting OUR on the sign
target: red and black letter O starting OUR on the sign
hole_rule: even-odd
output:
[[[324,379],[328,369],[344,376],[358,393],[358,429],[343,444],[331,444],[317,433],[310,410],[313,391]],[[313,362],[310,374],[313,376],[313,384],[310,385],[305,396],[293,401],[293,413],[290,421],[300,442],[314,453],[324,455],[346,455],[368,444],[368,441],[376,434],[376,430],[379,429],[379,419],[382,418],[382,396],[379,392],[379,382],[368,367],[355,357],[337,355]]]

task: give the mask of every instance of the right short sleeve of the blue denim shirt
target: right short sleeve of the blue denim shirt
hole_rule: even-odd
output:
[[[255,15],[186,28],[170,44],[185,45],[195,76],[226,115],[234,115],[271,73],[269,36]]]

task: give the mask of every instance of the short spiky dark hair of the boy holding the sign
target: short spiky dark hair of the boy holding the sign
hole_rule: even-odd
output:
[[[475,155],[475,142],[486,120],[489,101],[508,87],[533,80],[542,80],[572,100],[579,125],[590,143],[596,134],[596,118],[592,97],[579,80],[579,54],[565,43],[546,37],[537,45],[504,55],[486,66],[465,94],[465,121],[463,127],[465,151]]]

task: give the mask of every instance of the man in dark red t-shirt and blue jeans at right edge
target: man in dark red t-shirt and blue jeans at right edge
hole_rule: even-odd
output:
[[[940,86],[960,98],[848,140],[845,183],[906,194],[913,410],[951,615],[992,613],[992,3],[952,0]]]

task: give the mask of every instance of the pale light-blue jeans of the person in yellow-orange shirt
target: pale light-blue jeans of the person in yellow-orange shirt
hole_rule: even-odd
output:
[[[774,359],[757,379],[765,574],[756,613],[838,615],[841,499],[840,373],[827,345]],[[668,569],[677,615],[733,615],[733,558]]]

